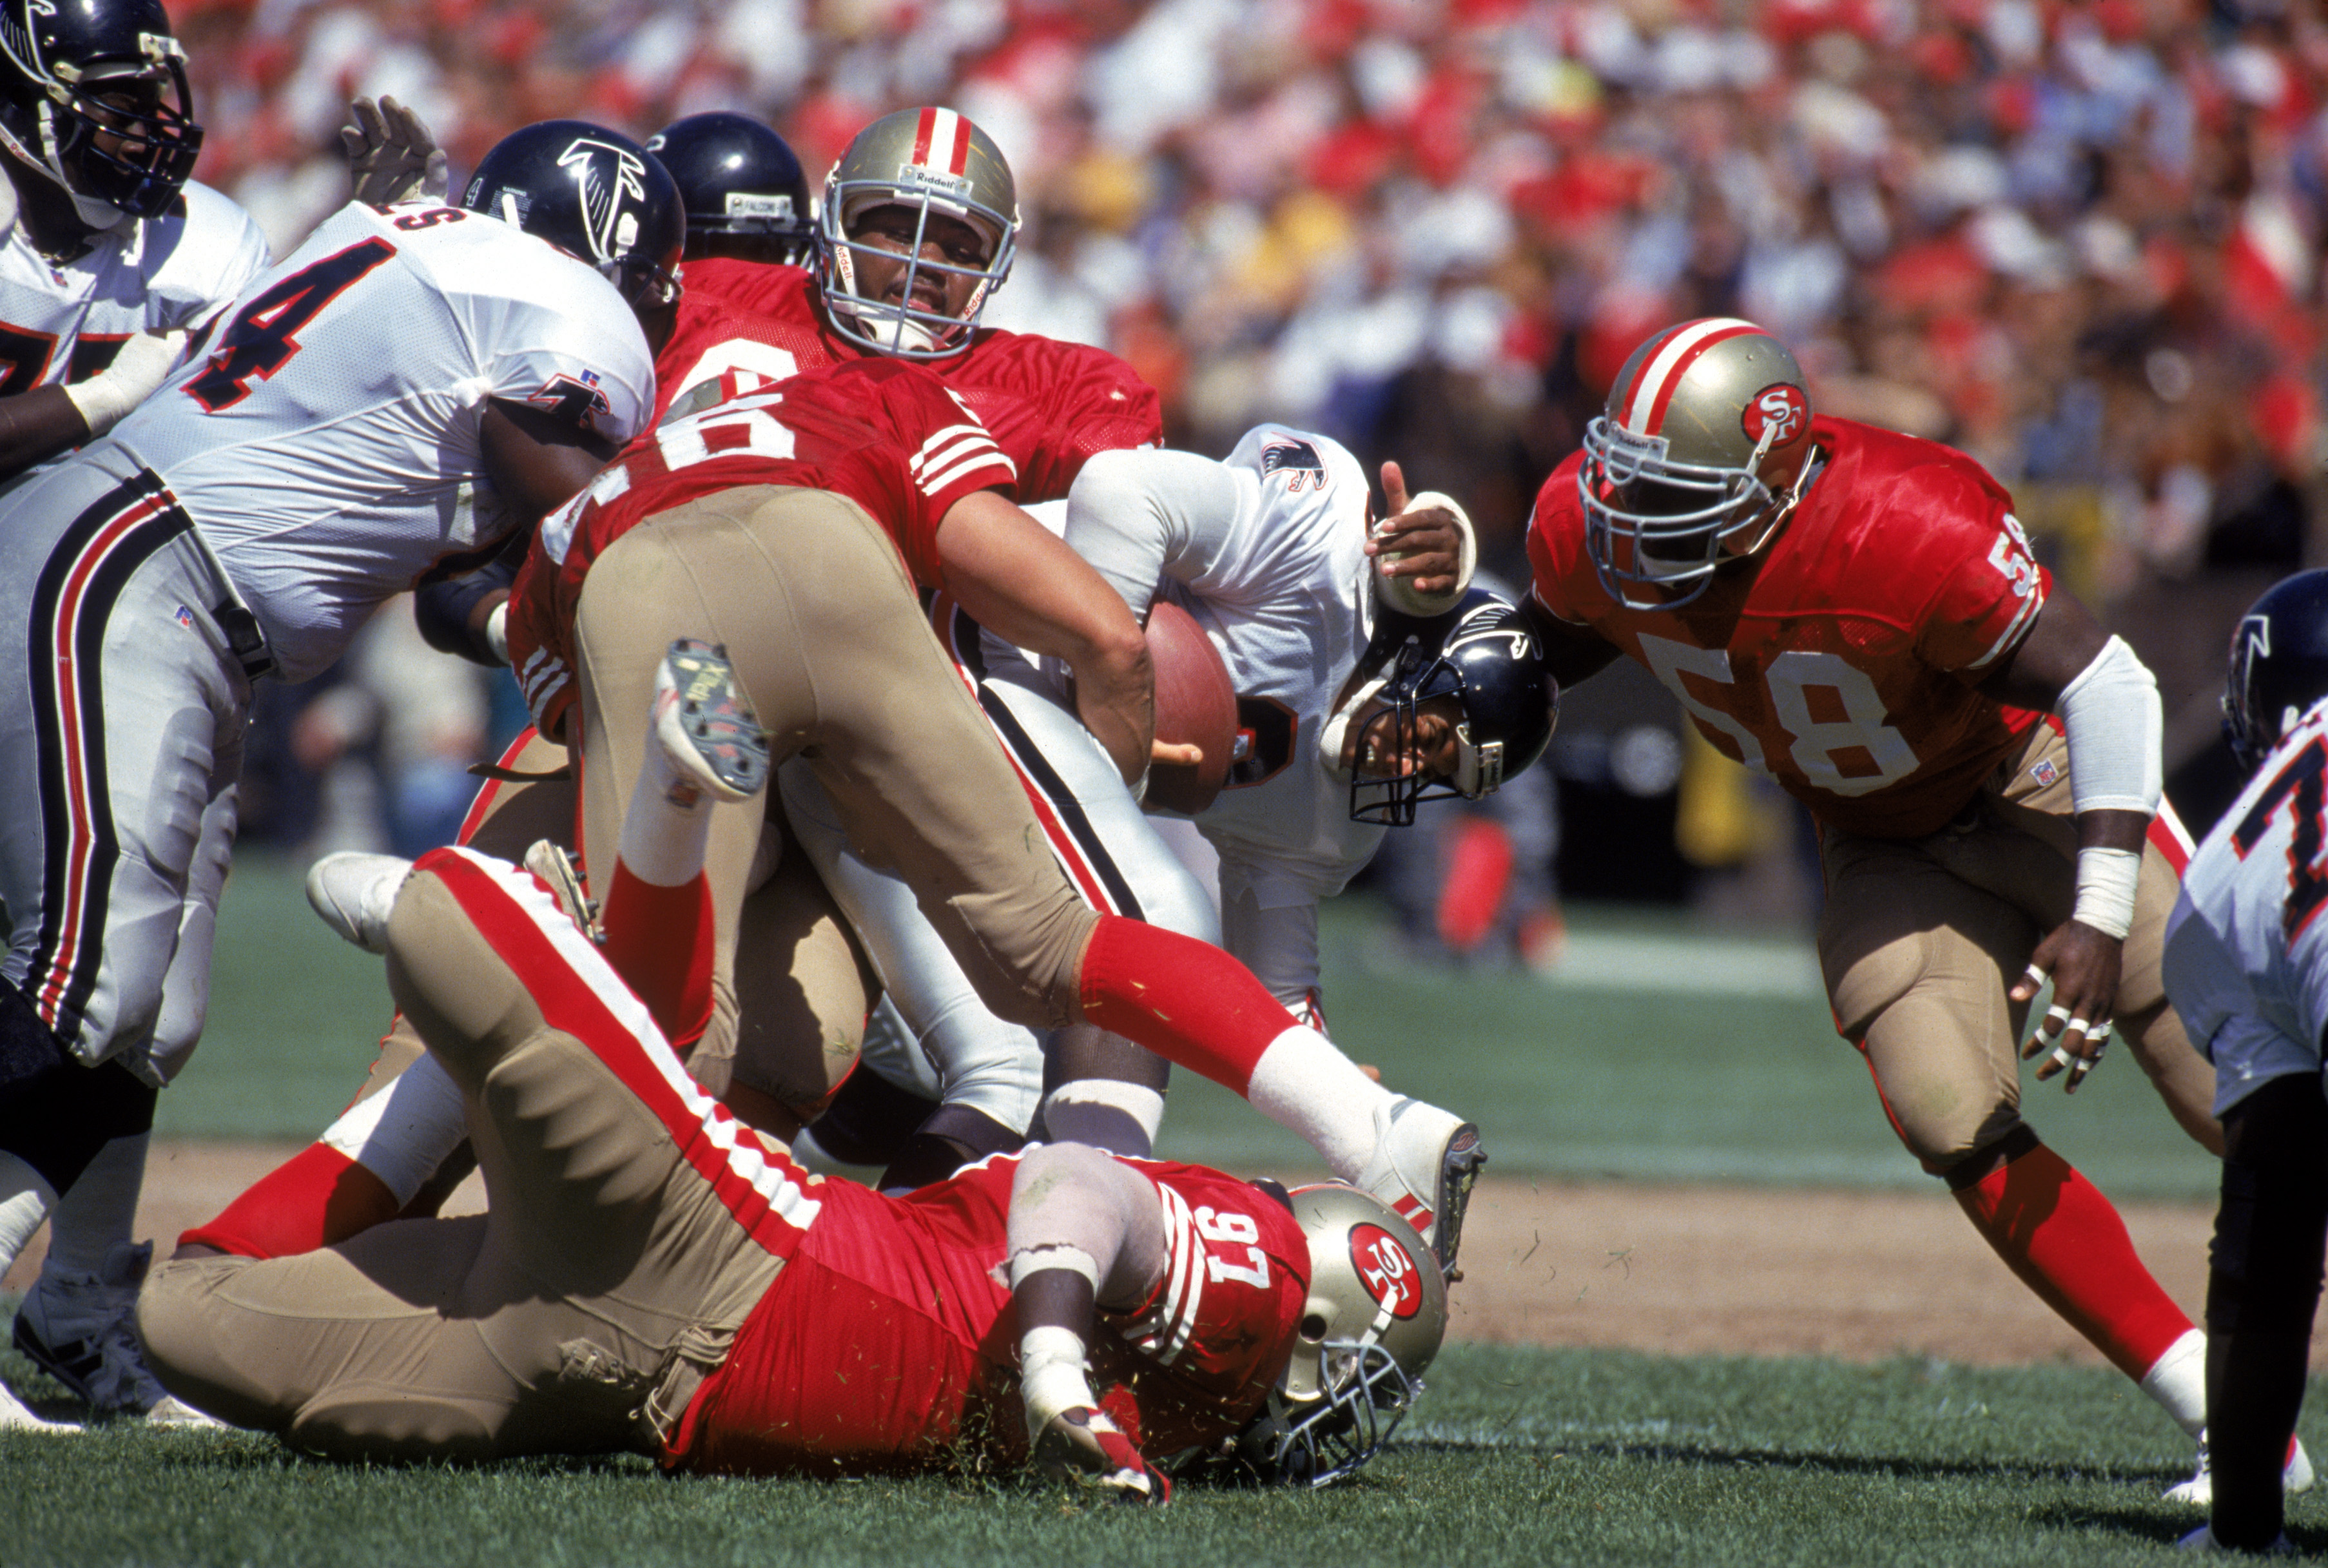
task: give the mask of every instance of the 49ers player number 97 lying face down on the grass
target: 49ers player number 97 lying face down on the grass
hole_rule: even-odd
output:
[[[712,796],[766,782],[733,691],[722,661],[673,649],[624,819],[624,865],[696,907]],[[1166,1456],[1238,1433],[1287,1480],[1353,1470],[1436,1352],[1436,1268],[1353,1189],[1287,1198],[1057,1145],[887,1198],[715,1105],[524,870],[435,849],[384,921],[340,924],[386,949],[491,1207],[156,1268],[154,1366],[237,1426],[338,1459],[633,1449],[745,1475],[1031,1449],[1162,1503]]]

